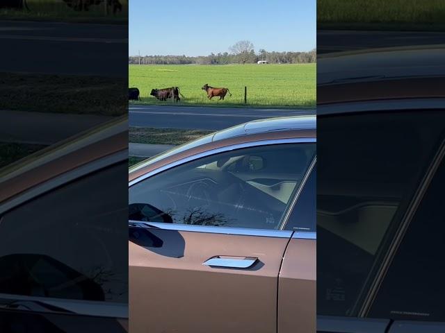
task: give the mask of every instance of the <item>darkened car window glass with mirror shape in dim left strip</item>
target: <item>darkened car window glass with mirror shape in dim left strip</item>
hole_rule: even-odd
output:
[[[127,170],[97,171],[4,214],[0,293],[127,302]]]

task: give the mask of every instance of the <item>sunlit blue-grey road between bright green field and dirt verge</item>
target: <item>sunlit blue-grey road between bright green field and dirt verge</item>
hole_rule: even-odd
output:
[[[222,130],[254,119],[315,114],[315,110],[129,105],[129,125]]]

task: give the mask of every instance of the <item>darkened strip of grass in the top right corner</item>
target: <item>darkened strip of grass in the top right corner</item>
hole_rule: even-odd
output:
[[[445,24],[444,0],[317,0],[318,24]]]

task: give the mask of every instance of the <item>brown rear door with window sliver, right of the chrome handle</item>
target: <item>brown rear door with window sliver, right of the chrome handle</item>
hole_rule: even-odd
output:
[[[278,333],[315,332],[316,317],[316,161],[294,198],[283,230],[293,232],[278,279]]]

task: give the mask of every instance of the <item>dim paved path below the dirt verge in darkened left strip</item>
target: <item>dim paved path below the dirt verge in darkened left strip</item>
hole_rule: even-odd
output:
[[[0,142],[55,144],[113,117],[0,110]]]

